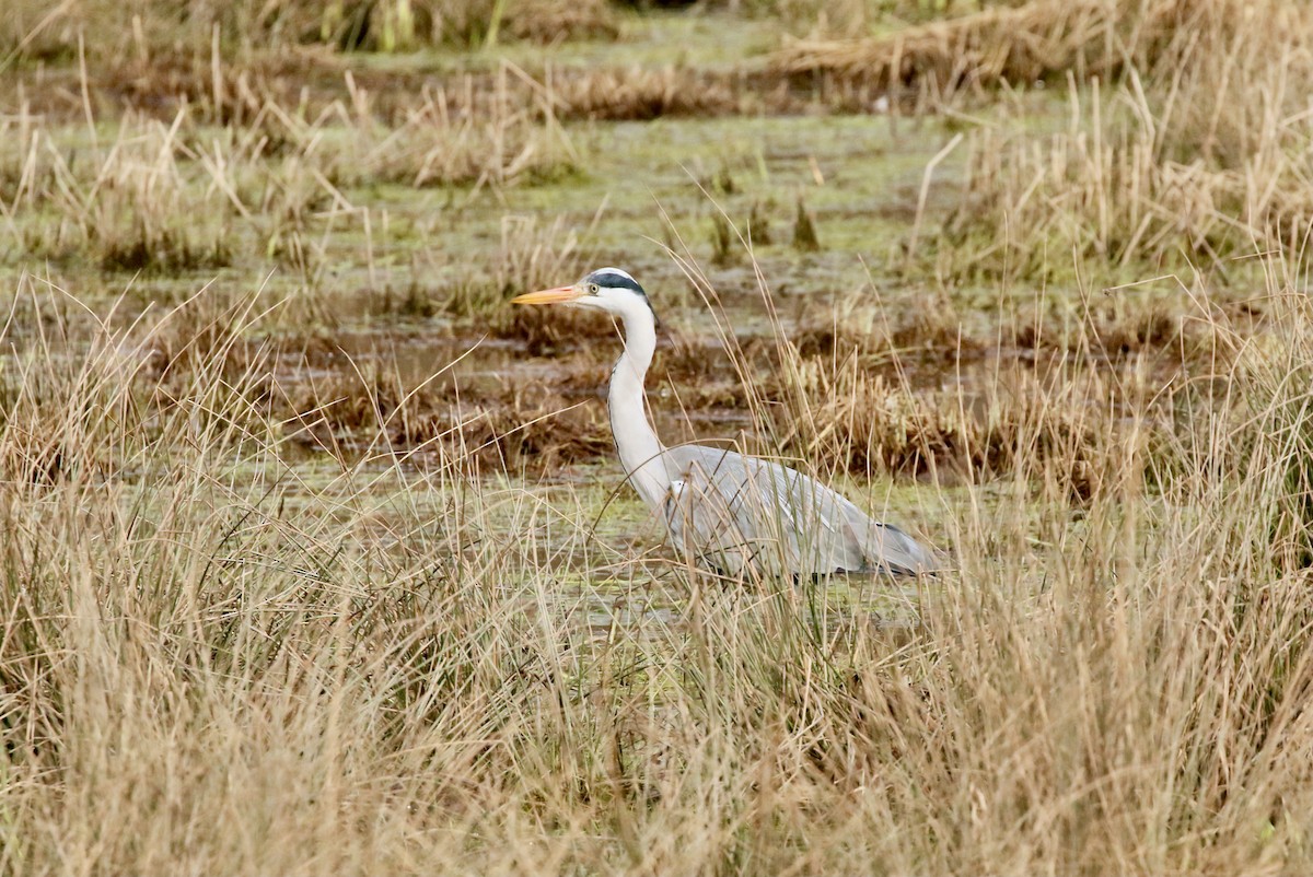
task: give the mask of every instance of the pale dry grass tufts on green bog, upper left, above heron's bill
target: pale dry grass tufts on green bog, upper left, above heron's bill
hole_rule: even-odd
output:
[[[219,130],[184,105],[168,122],[130,112],[102,139],[24,108],[0,119],[0,257],[176,276],[274,256],[315,286],[327,232],[374,234],[349,186],[477,192],[569,173],[569,137],[512,100],[508,79],[425,89],[395,125],[349,75],[349,97],[315,118],[251,95],[243,123]]]

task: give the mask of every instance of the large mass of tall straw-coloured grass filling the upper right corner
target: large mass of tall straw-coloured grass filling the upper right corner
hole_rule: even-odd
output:
[[[1121,56],[1142,60],[1111,85],[1069,74],[1065,130],[970,135],[940,270],[1035,278],[1074,252],[1165,274],[1203,265],[1225,278],[1232,257],[1299,248],[1313,215],[1313,17],[1292,4],[1222,0],[1141,13],[1171,26],[1137,25]],[[1221,62],[1190,62],[1199,55]],[[1120,277],[1102,268],[1095,282]]]

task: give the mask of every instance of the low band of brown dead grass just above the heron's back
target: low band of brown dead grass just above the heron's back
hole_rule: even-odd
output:
[[[1086,503],[1108,486],[1142,478],[1141,449],[1128,442],[1144,435],[1146,421],[1173,428],[1171,394],[1155,383],[1150,407],[1095,373],[1073,379],[1061,370],[1008,366],[991,377],[979,386],[913,393],[851,360],[838,372],[813,360],[798,369],[797,390],[819,402],[801,416],[781,408],[773,432],[790,454],[827,469],[981,483],[1015,475],[1046,495]],[[1128,465],[1141,469],[1127,473]]]

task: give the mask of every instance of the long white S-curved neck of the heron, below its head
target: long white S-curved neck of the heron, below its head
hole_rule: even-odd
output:
[[[656,330],[650,315],[630,319],[629,314],[622,314],[622,320],[625,352],[611,372],[607,393],[611,432],[629,483],[647,505],[660,508],[670,490],[670,475],[662,458],[666,448],[656,438],[643,404],[643,378],[656,351]]]

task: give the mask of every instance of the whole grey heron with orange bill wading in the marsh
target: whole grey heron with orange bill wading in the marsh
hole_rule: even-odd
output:
[[[571,286],[527,293],[516,305],[570,305],[618,318],[625,348],[611,370],[607,410],[625,477],[666,521],[676,550],[729,575],[746,571],[931,572],[935,555],[895,526],[802,473],[706,445],[667,448],[656,437],[643,379],[656,351],[656,314],[643,288],[618,268]]]

